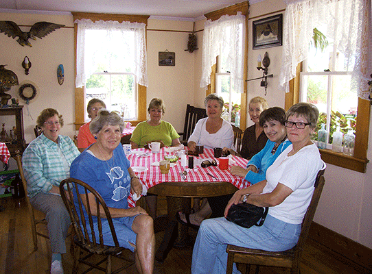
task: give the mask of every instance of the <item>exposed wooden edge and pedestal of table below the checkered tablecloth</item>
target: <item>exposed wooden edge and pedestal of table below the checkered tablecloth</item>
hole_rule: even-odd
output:
[[[152,186],[148,189],[148,192],[167,197],[168,216],[166,219],[159,217],[159,219],[156,218],[158,220],[155,220],[157,225],[165,227],[164,222],[176,222],[177,212],[191,212],[191,198],[228,195],[234,193],[236,190],[237,187],[229,182],[163,182]],[[187,228],[185,225],[178,225],[178,237],[174,241],[175,247],[185,247],[188,245]]]

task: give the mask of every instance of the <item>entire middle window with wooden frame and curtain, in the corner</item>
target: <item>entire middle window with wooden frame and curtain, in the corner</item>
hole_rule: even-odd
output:
[[[221,96],[224,119],[245,129],[248,1],[205,16],[200,87]]]

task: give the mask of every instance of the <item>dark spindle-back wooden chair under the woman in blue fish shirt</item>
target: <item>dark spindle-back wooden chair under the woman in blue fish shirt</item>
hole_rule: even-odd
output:
[[[78,186],[82,186],[84,190],[80,192]],[[65,192],[65,187],[67,187],[67,192],[69,195],[68,198],[67,193]],[[101,195],[97,191],[95,191],[94,188],[78,179],[67,178],[60,183],[60,193],[62,200],[65,203],[67,210],[69,211],[74,229],[74,236],[71,238],[71,242],[73,242],[73,245],[75,247],[75,251],[73,252],[74,262],[72,273],[76,273],[76,271],[78,270],[79,262],[90,266],[90,268],[84,273],[95,268],[100,269],[100,271],[104,271],[105,273],[113,274],[119,273],[123,269],[126,269],[135,263],[133,259],[133,253],[129,249],[119,247],[119,242],[115,233],[113,220],[111,219],[111,214],[108,211],[104,199],[102,199]],[[89,193],[93,193],[95,197],[95,203],[97,204],[97,224],[99,230],[97,234],[95,234],[94,230],[91,229],[91,227],[93,227],[93,215],[90,206],[92,201],[89,201],[88,198]],[[82,203],[81,195],[85,195],[87,201],[86,208]],[[75,201],[75,203],[71,203],[70,201]],[[88,219],[84,218],[83,212],[86,212],[86,214],[88,215]],[[106,218],[103,218],[102,216],[105,216]],[[114,247],[104,244],[104,239],[102,238],[102,219],[108,221],[108,225],[111,229],[111,234],[113,235],[113,241],[115,242]],[[86,251],[88,254],[80,258],[82,255],[82,250]],[[99,262],[87,260],[93,255],[104,256],[104,259],[100,260]],[[125,257],[125,255],[127,257]],[[121,266],[120,269],[111,271],[112,256],[124,259],[127,262],[126,264]],[[100,266],[100,264],[105,261],[106,268]]]

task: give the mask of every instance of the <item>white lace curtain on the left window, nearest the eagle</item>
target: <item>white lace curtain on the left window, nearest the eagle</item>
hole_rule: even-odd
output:
[[[78,37],[76,52],[76,82],[77,88],[84,86],[86,79],[92,74],[95,64],[94,52],[100,49],[95,49],[95,45],[89,45],[89,50],[86,49],[86,30],[105,30],[106,37],[109,39],[113,32],[119,31],[123,42],[119,45],[119,51],[126,53],[122,56],[130,56],[132,62],[126,61],[124,57],[122,60],[115,60],[130,66],[130,72],[136,75],[137,84],[148,86],[147,64],[146,64],[146,24],[144,23],[130,23],[117,21],[96,21],[93,23],[90,19],[76,20],[74,23],[78,24]],[[91,43],[94,44],[94,43]],[[117,46],[113,42],[108,42],[105,47],[107,52],[118,51]]]

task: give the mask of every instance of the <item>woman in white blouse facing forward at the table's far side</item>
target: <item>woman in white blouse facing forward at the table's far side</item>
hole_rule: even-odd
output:
[[[187,147],[195,151],[196,145],[203,145],[206,149],[214,147],[233,148],[233,127],[221,118],[224,100],[215,93],[208,95],[204,100],[207,110],[207,118],[200,119],[196,123],[194,132],[191,134]]]

